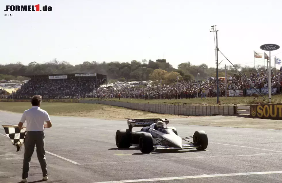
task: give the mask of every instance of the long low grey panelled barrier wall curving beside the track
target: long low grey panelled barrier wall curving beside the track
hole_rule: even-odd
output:
[[[128,109],[142,110],[161,114],[177,114],[187,116],[212,116],[212,115],[234,115],[235,106],[190,106],[190,105],[168,105],[168,104],[139,104],[127,102],[114,102],[104,100],[79,100],[79,103],[104,104],[110,106],[125,107]]]

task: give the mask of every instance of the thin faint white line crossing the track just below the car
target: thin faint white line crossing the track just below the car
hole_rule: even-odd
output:
[[[216,157],[263,156],[263,155],[273,155],[273,154],[282,154],[282,153],[249,154],[249,155],[222,155],[222,156],[205,156],[205,157],[176,157],[176,158],[170,158],[170,159],[143,159],[143,160],[132,160],[132,161],[110,161],[110,162],[96,162],[96,163],[80,163],[79,165],[110,164],[110,163],[132,163],[132,162],[143,162],[143,161],[165,161],[165,160],[178,160],[178,159],[204,159],[204,158],[216,158]]]

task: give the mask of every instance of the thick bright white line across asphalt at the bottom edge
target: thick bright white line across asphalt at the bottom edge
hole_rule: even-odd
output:
[[[227,177],[227,176],[242,176],[242,175],[263,175],[263,174],[282,174],[282,171],[276,171],[276,172],[246,172],[246,173],[233,173],[233,174],[211,174],[211,175],[196,175],[196,176],[184,176],[184,177],[148,178],[148,179],[118,180],[118,181],[94,182],[94,183],[149,182],[149,181],[161,181],[161,180],[179,180],[179,179],[192,179],[192,178]]]

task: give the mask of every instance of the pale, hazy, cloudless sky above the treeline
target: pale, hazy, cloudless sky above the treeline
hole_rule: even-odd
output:
[[[260,46],[268,43],[281,46],[271,51],[271,65],[274,55],[282,59],[278,0],[22,2],[0,1],[0,64],[166,59],[175,68],[187,61],[215,67],[212,25],[218,30],[218,48],[233,64],[266,64],[264,59],[254,63],[254,50],[263,53]],[[52,11],[4,11],[6,5],[37,4],[40,9],[52,6]],[[223,59],[219,52],[219,62]],[[225,64],[231,65],[223,60],[220,67]]]

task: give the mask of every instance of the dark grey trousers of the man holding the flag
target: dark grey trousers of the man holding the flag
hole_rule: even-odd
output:
[[[31,156],[36,145],[37,158],[39,160],[43,177],[47,176],[47,163],[44,149],[45,134],[43,131],[27,132],[24,141],[24,164],[22,167],[22,179],[28,178]]]

